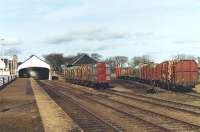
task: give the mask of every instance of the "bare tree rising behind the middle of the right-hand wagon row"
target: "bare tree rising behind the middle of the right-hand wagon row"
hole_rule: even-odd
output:
[[[154,63],[153,60],[149,55],[143,55],[143,56],[136,56],[131,59],[131,66],[135,67],[141,64],[151,64]]]

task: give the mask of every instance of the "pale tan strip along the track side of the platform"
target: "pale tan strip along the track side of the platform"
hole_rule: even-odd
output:
[[[33,79],[31,86],[46,132],[83,131]]]

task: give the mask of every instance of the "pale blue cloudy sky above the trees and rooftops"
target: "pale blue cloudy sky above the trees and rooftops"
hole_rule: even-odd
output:
[[[0,0],[1,54],[200,56],[199,0]]]

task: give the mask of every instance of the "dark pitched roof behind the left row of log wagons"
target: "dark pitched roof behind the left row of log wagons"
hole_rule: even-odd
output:
[[[97,60],[88,56],[87,54],[77,55],[66,60],[67,66],[82,65],[82,64],[95,64]]]

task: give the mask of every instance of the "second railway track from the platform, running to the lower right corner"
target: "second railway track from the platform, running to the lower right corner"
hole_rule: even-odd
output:
[[[154,127],[157,127],[157,128],[160,127],[160,129],[162,128],[165,131],[199,131],[200,130],[199,125],[195,125],[190,122],[179,120],[176,118],[168,117],[165,114],[159,114],[153,111],[139,108],[137,106],[116,101],[111,98],[102,97],[101,95],[90,95],[89,93],[84,94],[85,90],[73,88],[71,85],[67,85],[67,84],[61,85],[61,83],[59,84],[55,82],[52,82],[52,83],[48,82],[46,83],[46,85],[48,85],[48,87],[65,90],[67,91],[67,93],[70,93],[77,98],[99,103],[103,106],[106,106],[118,112],[124,113],[128,115],[129,118],[137,117],[138,119],[146,121],[152,126],[154,125]],[[108,92],[108,91],[105,91],[105,92]],[[108,93],[112,94],[110,92],[111,91],[109,91]],[[118,96],[121,96],[121,95],[118,94]]]

